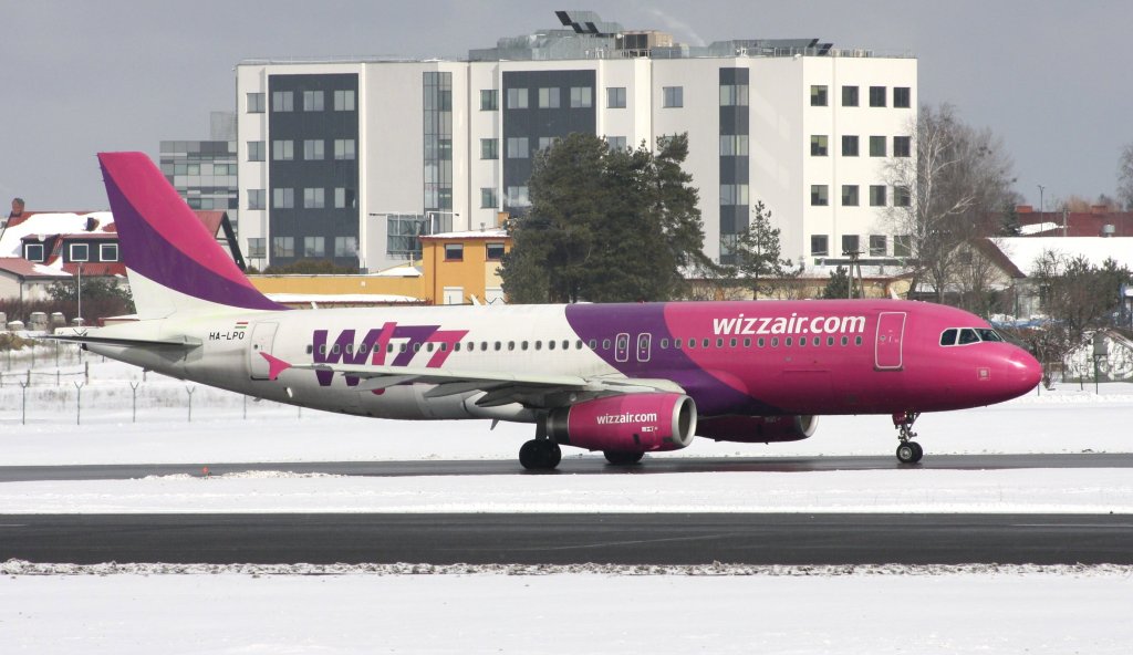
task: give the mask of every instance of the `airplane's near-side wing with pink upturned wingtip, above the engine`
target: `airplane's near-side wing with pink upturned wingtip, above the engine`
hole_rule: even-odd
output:
[[[270,355],[263,354],[265,358]],[[330,371],[337,375],[359,380],[357,391],[377,391],[399,384],[434,384],[426,398],[443,398],[471,391],[485,392],[476,401],[479,407],[497,407],[520,402],[528,407],[560,407],[579,400],[648,393],[656,391],[682,392],[681,386],[668,380],[646,380],[624,376],[582,377],[564,374],[526,374],[488,372],[479,369],[425,368],[409,366],[372,366],[347,364],[310,364],[279,367],[281,361],[269,363],[282,373],[284,368],[300,371]]]

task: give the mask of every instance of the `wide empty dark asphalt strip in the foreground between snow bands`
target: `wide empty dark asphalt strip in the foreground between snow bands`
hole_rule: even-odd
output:
[[[1133,517],[5,514],[0,561],[1133,564]]]

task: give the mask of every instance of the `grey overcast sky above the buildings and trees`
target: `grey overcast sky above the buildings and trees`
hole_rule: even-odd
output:
[[[819,37],[910,52],[922,103],[951,102],[1002,136],[1015,190],[1047,206],[1114,195],[1133,142],[1127,0],[545,0],[428,2],[5,0],[0,7],[0,196],[29,210],[108,206],[99,151],[207,139],[233,111],[241,59],[391,54],[465,58],[500,36],[593,9],[678,41]]]

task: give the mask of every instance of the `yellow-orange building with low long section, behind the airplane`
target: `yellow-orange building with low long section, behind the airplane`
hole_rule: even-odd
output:
[[[502,303],[503,229],[420,237],[421,261],[369,274],[249,275],[262,292],[296,307]]]

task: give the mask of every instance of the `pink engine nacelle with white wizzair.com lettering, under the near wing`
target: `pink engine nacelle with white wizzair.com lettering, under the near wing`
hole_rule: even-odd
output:
[[[697,406],[681,393],[627,393],[555,409],[547,434],[587,450],[680,450],[697,431]]]

